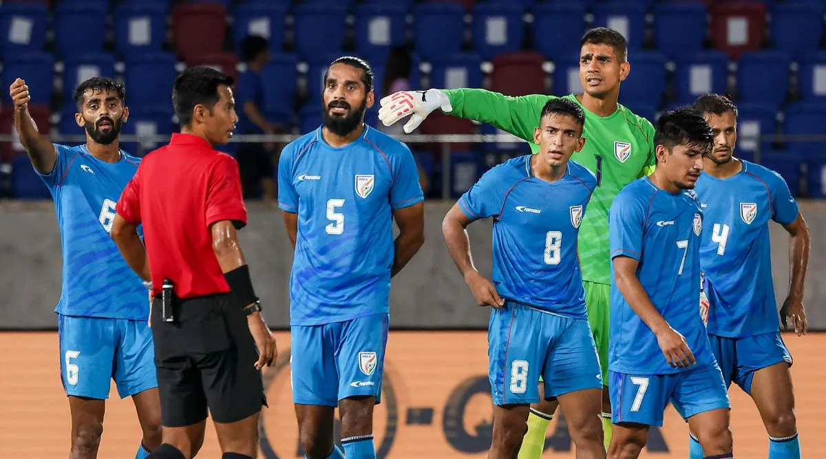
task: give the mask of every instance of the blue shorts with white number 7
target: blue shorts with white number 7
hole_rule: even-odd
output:
[[[667,375],[628,375],[609,371],[611,421],[662,427],[671,401],[682,419],[712,409],[729,408],[729,394],[716,362]]]

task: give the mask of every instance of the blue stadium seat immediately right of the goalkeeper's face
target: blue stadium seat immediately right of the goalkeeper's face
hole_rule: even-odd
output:
[[[631,74],[622,82],[619,102],[623,105],[659,106],[666,88],[666,57],[638,51],[629,56]]]

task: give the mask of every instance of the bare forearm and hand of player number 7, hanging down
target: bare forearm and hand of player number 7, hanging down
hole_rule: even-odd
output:
[[[648,328],[657,336],[657,343],[672,367],[685,368],[694,365],[697,361],[686,339],[668,324],[665,318],[654,307],[637,277],[639,262],[634,258],[619,255],[614,258],[614,282],[619,292],[628,301],[634,313],[643,319]]]

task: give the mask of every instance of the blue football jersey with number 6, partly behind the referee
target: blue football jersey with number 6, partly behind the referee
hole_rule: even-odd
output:
[[[63,250],[63,286],[55,312],[146,320],[146,287],[109,236],[115,203],[140,159],[121,151],[120,161],[106,163],[86,145],[55,144],[55,149],[55,168],[40,174],[55,200]]]

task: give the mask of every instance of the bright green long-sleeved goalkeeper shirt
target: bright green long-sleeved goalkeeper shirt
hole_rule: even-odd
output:
[[[483,89],[448,89],[453,111],[449,115],[495,125],[529,141],[536,153],[534,128],[548,100],[554,96],[534,94],[522,97],[503,96]],[[574,94],[565,98],[582,104]],[[611,202],[625,185],[653,172],[654,127],[622,105],[610,116],[596,116],[585,111],[585,147],[574,152],[572,159],[590,169],[597,177],[597,187],[579,229],[579,259],[582,280],[610,284],[610,248],[608,211]]]

